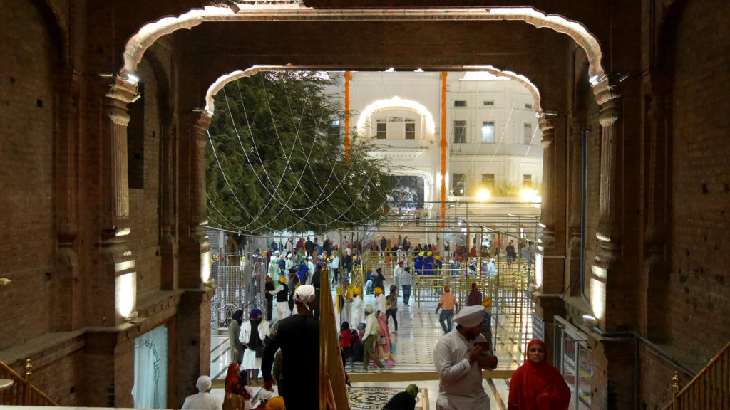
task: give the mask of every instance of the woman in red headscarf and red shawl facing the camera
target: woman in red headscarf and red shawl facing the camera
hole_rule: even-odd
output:
[[[548,363],[545,342],[527,344],[527,360],[510,379],[507,410],[566,410],[570,389],[560,371]]]

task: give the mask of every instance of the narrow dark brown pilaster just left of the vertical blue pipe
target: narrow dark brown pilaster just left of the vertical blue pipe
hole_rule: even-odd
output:
[[[581,194],[583,193],[583,112],[572,112],[569,120],[568,271],[571,295],[580,295]]]

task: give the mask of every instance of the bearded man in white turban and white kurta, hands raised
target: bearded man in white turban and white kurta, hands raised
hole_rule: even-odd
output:
[[[437,410],[489,410],[489,396],[482,386],[485,359],[491,357],[480,331],[483,306],[467,306],[454,317],[458,325],[439,339],[434,365],[439,374]],[[496,366],[496,360],[490,369]]]

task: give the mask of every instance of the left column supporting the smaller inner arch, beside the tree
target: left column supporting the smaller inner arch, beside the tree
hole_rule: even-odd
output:
[[[204,227],[207,223],[205,197],[205,145],[210,117],[191,112],[181,118],[180,193],[187,212],[181,212],[180,287],[199,289],[210,259],[210,244]]]

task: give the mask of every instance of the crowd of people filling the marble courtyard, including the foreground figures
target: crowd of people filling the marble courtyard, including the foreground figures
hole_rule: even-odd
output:
[[[381,241],[385,241],[387,249],[385,236]],[[339,250],[329,240],[320,245],[317,238],[314,241],[307,238],[296,245],[288,241],[284,255],[278,249],[270,250],[267,312],[252,309],[246,321],[245,312],[240,309],[231,316],[228,337],[232,363],[226,374],[226,399],[215,403],[207,393],[210,377],[201,376],[197,385],[199,393],[190,396],[183,409],[220,409],[221,404],[223,410],[252,409],[250,384],[257,384],[259,376],[263,379],[263,390],[258,393],[261,401],[257,409],[318,408],[319,356],[313,353],[319,352],[322,276],[331,281],[335,290],[339,347],[345,369],[383,372],[394,365],[399,303],[404,306],[410,303],[413,273],[427,274],[442,269],[442,264],[439,255],[435,255],[434,245],[419,244],[411,250],[415,252],[413,266],[407,266],[401,256],[410,250],[410,242],[407,237],[399,236],[393,246],[397,248],[395,255],[383,253],[386,265],[388,255],[392,258],[393,284],[386,287],[389,281],[383,268],[374,272],[369,269],[362,289],[350,283],[353,268],[361,263],[361,247],[358,241],[354,247],[347,244],[344,250]],[[374,247],[377,249],[378,245]],[[513,252],[510,247],[514,247],[511,242],[505,249],[508,255]],[[455,260],[450,260],[448,266],[452,268],[455,264],[458,266]],[[462,271],[461,266],[454,269]],[[494,271],[493,259],[482,271]],[[482,385],[482,371],[494,369],[498,363],[491,346],[491,298],[483,298],[476,283],[472,285],[466,306],[459,306],[449,286],[440,291],[435,313],[444,336],[434,348],[433,356],[439,375],[437,409],[490,409]],[[364,303],[363,293],[372,293],[374,303]],[[277,316],[272,325],[274,298]],[[356,367],[358,362],[363,363],[360,369]],[[272,397],[274,386],[278,397]],[[509,409],[566,409],[566,389],[559,372],[556,374],[555,368],[547,363],[545,344],[531,341],[525,364],[512,377]],[[412,384],[396,394],[383,409],[412,410],[417,395],[418,387]]]

